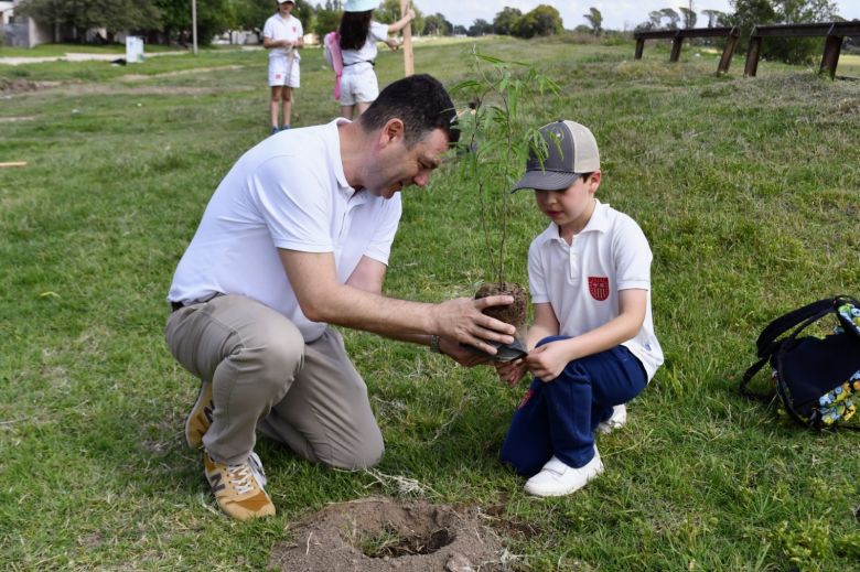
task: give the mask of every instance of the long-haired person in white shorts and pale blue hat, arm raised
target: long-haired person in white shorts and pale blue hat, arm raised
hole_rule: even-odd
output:
[[[341,115],[352,119],[355,111],[362,115],[379,95],[379,84],[374,73],[376,42],[385,42],[391,50],[400,43],[389,39],[415,19],[411,8],[406,15],[393,24],[373,20],[373,12],[379,0],[347,0],[341,19]]]

